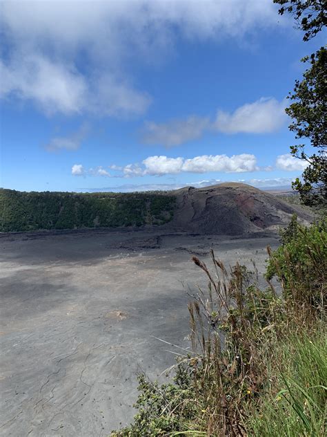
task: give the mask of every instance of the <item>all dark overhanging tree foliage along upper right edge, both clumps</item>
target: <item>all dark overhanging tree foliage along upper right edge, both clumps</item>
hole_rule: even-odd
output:
[[[327,25],[326,0],[274,0],[278,3],[279,14],[289,13],[295,18],[297,27],[303,30],[304,41],[312,39]],[[307,167],[293,182],[304,205],[327,207],[327,50],[326,46],[301,59],[310,67],[304,72],[301,82],[297,80],[286,113],[292,119],[290,131],[297,140],[306,144],[290,147],[290,153],[306,161]],[[315,147],[314,154],[308,155],[306,145]]]

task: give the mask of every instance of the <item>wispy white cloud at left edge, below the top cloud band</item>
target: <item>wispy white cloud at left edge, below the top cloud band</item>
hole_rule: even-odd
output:
[[[144,113],[151,102],[113,75],[85,77],[73,66],[56,64],[41,55],[0,60],[0,96],[32,100],[49,115],[60,112],[124,116]]]

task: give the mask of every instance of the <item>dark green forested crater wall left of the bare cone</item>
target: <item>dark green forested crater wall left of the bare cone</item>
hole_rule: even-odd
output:
[[[0,190],[0,232],[161,225],[172,219],[166,193],[64,193]]]

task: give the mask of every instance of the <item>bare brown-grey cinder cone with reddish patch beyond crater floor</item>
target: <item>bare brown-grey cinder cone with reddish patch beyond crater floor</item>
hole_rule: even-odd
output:
[[[186,187],[174,194],[177,210],[172,225],[192,232],[241,235],[286,225],[294,213],[302,221],[312,219],[301,207],[242,183]]]

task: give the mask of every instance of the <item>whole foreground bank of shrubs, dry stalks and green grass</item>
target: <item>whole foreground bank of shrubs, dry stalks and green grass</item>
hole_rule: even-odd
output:
[[[208,289],[189,304],[192,348],[172,382],[139,376],[139,412],[112,436],[326,435],[326,223],[293,217],[268,254],[266,288],[255,268],[193,257]]]

